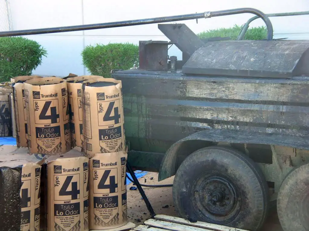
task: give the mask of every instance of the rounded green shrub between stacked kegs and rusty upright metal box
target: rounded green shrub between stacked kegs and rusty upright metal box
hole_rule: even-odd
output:
[[[92,75],[111,76],[112,69],[130,69],[138,65],[138,45],[110,43],[87,46],[82,52],[83,65]]]

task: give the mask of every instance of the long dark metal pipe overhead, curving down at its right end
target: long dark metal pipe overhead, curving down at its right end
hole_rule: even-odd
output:
[[[51,27],[51,28],[19,30],[19,31],[1,31],[0,37],[38,35],[38,34],[49,34],[49,33],[59,33],[59,32],[68,32],[68,31],[85,31],[85,30],[95,30],[95,29],[114,28],[114,27],[127,27],[127,26],[145,25],[145,24],[153,24],[153,23],[183,21],[183,20],[190,20],[190,19],[211,18],[211,17],[217,17],[217,16],[235,15],[235,14],[243,14],[243,13],[252,13],[262,18],[267,27],[267,39],[268,40],[273,39],[273,26],[269,18],[263,12],[253,9],[253,8],[239,8],[239,9],[213,11],[213,12],[208,11],[208,12],[188,14],[188,15],[176,15],[176,16],[159,17],[159,18],[137,19],[137,20],[87,24],[87,25],[78,25],[78,26]]]

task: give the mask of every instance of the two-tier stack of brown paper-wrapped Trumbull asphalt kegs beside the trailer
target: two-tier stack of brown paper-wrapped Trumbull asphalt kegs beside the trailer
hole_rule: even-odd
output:
[[[4,200],[16,200],[19,191],[21,204],[16,200],[6,209],[14,208],[11,215],[21,220],[20,230],[88,231],[125,225],[121,81],[73,74],[23,76],[15,78],[12,88],[19,148],[13,153],[21,161],[0,165],[0,184],[3,173],[16,171],[18,190],[10,195],[13,187],[8,187]],[[9,155],[0,157],[11,161]],[[6,225],[7,230],[15,230],[14,225]]]

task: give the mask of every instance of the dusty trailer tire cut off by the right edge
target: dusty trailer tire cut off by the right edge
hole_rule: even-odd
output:
[[[309,163],[291,170],[283,180],[277,213],[284,231],[309,230]]]

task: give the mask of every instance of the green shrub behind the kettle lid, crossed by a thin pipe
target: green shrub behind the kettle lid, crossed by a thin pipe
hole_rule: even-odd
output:
[[[210,37],[231,37],[231,40],[236,40],[241,30],[240,26],[235,25],[230,28],[219,28],[215,30],[203,31],[197,36],[201,39]],[[266,27],[252,27],[249,28],[245,34],[244,40],[262,40],[267,37]]]

